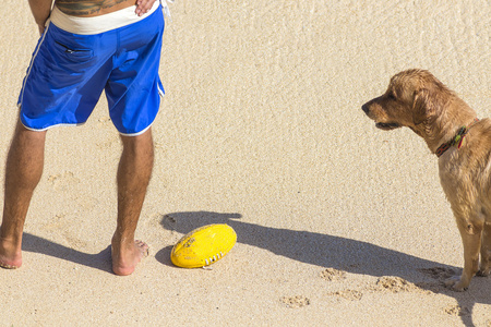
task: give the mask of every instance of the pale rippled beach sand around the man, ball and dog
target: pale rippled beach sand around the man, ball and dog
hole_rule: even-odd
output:
[[[37,28],[27,1],[2,1],[3,169]],[[170,10],[137,229],[151,256],[110,274],[120,144],[101,99],[84,126],[48,133],[24,265],[0,270],[0,326],[491,326],[490,278],[441,287],[463,250],[436,158],[360,109],[422,68],[491,116],[489,0]],[[212,222],[235,228],[235,249],[212,270],[173,267],[172,244]]]

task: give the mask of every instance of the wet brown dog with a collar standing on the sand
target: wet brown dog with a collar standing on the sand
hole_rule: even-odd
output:
[[[422,70],[396,74],[385,94],[362,109],[381,130],[411,129],[439,157],[440,181],[464,243],[464,271],[446,284],[463,291],[476,274],[490,275],[491,121],[479,121],[466,102]]]

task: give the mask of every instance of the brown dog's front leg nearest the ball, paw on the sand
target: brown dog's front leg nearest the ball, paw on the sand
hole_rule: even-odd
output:
[[[464,270],[460,278],[458,276],[450,278],[445,284],[454,291],[462,292],[469,287],[470,279],[478,271],[482,227],[458,218],[457,225],[464,244]]]

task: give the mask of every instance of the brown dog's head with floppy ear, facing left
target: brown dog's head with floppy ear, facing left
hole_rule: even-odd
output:
[[[428,124],[439,114],[440,102],[444,100],[442,94],[447,92],[430,72],[408,70],[393,76],[387,90],[361,108],[381,130],[407,126],[421,135],[424,130],[421,124]]]

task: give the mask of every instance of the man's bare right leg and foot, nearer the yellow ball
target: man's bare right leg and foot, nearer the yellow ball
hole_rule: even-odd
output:
[[[112,271],[130,275],[148,246],[134,240],[154,166],[152,130],[137,136],[121,136],[123,152],[118,169],[118,222],[111,242]]]

